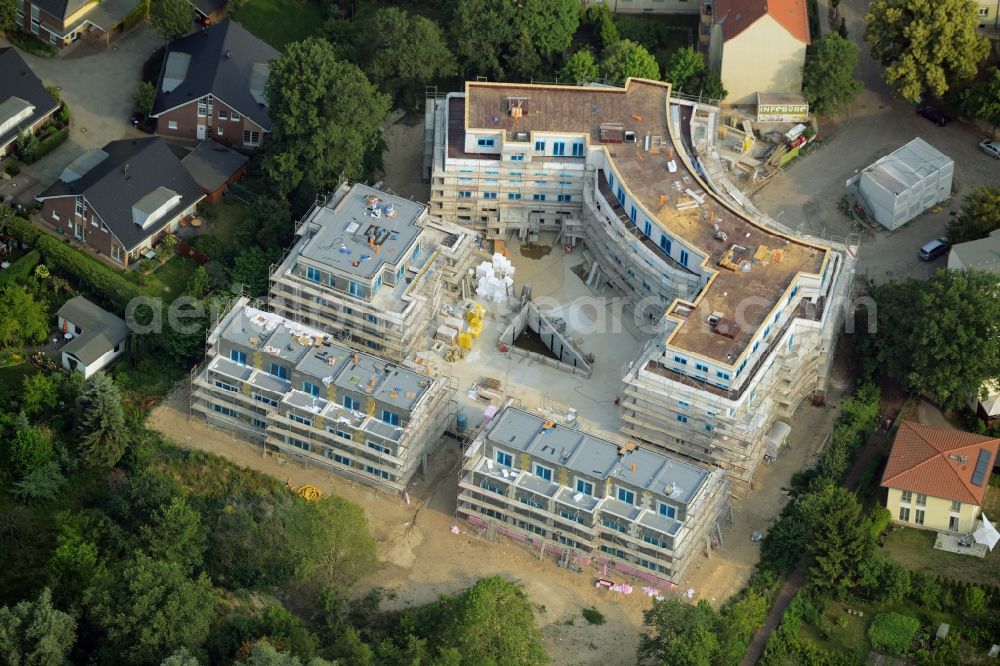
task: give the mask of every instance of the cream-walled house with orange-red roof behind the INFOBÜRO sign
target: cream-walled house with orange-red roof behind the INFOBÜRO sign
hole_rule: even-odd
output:
[[[805,0],[714,0],[701,4],[700,39],[722,78],[727,104],[802,90],[809,45]]]

